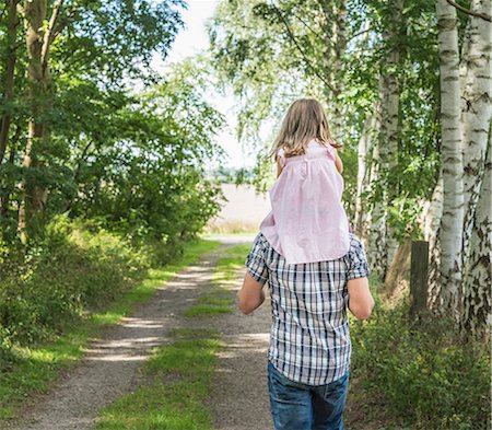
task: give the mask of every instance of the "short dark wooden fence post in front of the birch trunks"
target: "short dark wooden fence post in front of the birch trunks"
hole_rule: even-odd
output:
[[[410,263],[410,317],[415,318],[427,309],[429,242],[412,242]]]

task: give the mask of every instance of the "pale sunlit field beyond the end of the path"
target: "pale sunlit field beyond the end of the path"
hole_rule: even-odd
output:
[[[226,201],[213,218],[207,231],[210,233],[245,233],[258,230],[261,220],[270,211],[268,194],[257,194],[246,185],[223,184]]]

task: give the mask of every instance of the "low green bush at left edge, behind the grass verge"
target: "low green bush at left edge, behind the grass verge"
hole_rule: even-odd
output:
[[[23,257],[21,257],[23,256]],[[55,218],[28,249],[12,251],[0,282],[0,333],[28,344],[59,334],[141,279],[152,260],[122,237]],[[7,350],[7,348],[3,348]]]

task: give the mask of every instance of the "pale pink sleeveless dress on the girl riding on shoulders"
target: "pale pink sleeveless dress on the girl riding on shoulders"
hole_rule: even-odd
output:
[[[270,190],[271,212],[260,231],[288,264],[327,262],[349,252],[349,221],[341,205],[343,178],[336,150],[316,140],[303,155],[285,158]]]

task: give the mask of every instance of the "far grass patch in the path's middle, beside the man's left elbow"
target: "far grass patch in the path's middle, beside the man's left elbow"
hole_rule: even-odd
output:
[[[224,257],[219,258],[212,280],[213,288],[199,297],[197,304],[186,309],[185,316],[215,316],[234,312],[232,305],[235,301],[229,295],[229,291],[237,284],[237,271],[244,267],[249,247],[249,244],[233,246]]]

